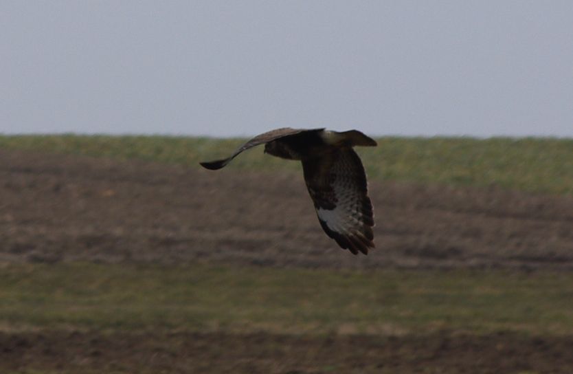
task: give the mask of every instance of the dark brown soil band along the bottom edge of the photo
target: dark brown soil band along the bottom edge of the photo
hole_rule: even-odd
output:
[[[0,333],[0,369],[57,373],[573,373],[573,338]]]

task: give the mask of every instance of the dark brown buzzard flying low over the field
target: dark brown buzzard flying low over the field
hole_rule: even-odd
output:
[[[356,130],[283,128],[257,135],[228,158],[201,165],[223,168],[239,153],[263,143],[269,155],[302,162],[306,188],[324,232],[341,248],[368,254],[368,248],[374,248],[374,214],[366,173],[352,146],[376,146],[376,142]]]

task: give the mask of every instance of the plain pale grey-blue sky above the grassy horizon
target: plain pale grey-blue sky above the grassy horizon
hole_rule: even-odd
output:
[[[0,133],[573,137],[573,1],[0,1]]]

